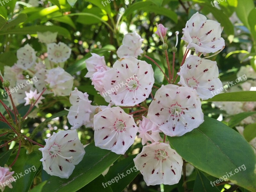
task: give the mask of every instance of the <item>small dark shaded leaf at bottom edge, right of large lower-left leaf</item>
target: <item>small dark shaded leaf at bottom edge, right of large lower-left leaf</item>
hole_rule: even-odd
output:
[[[85,191],[90,191],[90,192],[99,192],[99,191],[100,192],[113,192],[113,190],[111,189],[111,187],[109,185],[107,185],[107,186],[104,185],[103,186],[103,184],[106,183],[106,182],[107,182],[107,180],[105,179],[105,177],[100,174],[99,177],[97,177],[96,179],[94,179],[93,181],[91,181],[90,183],[85,185],[79,191],[84,191],[84,192]]]

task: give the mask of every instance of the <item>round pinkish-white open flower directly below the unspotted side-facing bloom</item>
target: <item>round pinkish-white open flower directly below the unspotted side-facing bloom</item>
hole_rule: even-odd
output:
[[[155,82],[154,71],[146,61],[129,56],[117,60],[102,82],[115,105],[133,106],[148,98]]]

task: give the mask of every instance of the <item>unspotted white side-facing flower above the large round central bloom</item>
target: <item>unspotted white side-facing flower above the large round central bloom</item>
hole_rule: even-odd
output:
[[[117,49],[117,56],[123,58],[132,56],[138,58],[143,53],[141,45],[144,39],[136,33],[127,33],[123,38],[123,44]]]

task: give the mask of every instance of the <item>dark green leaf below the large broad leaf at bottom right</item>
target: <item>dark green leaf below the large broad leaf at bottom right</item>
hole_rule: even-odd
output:
[[[200,191],[200,192],[220,192],[220,190],[215,185],[210,185],[210,180],[198,169],[196,169],[196,180],[194,184],[193,191]]]

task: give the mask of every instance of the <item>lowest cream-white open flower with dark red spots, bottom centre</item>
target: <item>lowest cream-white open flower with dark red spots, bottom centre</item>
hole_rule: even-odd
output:
[[[143,146],[133,161],[148,186],[174,185],[181,178],[182,158],[167,143],[155,142]]]

